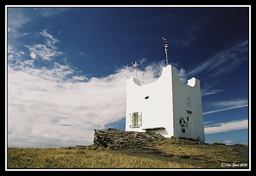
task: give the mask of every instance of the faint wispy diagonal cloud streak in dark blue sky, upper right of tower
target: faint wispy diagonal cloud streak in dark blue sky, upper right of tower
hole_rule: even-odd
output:
[[[247,60],[248,39],[238,43],[236,46],[215,54],[201,65],[188,72],[188,75],[194,75],[207,69],[211,76],[228,73],[234,70],[239,64]]]

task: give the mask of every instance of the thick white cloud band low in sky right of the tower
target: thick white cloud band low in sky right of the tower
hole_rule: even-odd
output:
[[[232,131],[237,129],[248,128],[248,120],[225,122],[220,124],[214,124],[215,126],[204,127],[205,134],[221,133],[225,131]]]

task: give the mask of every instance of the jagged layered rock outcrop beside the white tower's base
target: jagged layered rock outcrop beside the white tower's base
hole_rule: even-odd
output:
[[[145,142],[165,139],[162,135],[120,129],[94,129],[94,145],[112,150],[132,148]]]

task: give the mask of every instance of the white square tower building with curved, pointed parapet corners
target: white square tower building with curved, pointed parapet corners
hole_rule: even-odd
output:
[[[125,130],[164,137],[200,136],[205,142],[200,81],[193,77],[183,83],[172,65],[164,67],[153,83],[127,79]]]

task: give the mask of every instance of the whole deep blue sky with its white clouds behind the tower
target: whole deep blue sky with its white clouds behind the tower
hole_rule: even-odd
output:
[[[127,63],[156,80],[163,37],[181,80],[200,80],[205,141],[248,143],[248,11],[8,7],[8,146],[88,145],[95,128],[124,130]]]

